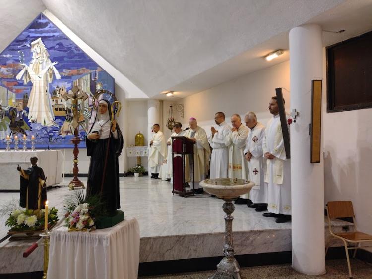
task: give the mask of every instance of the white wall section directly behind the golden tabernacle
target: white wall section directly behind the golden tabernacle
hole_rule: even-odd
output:
[[[126,146],[134,146],[134,137],[141,132],[145,137],[145,145],[148,145],[147,139],[147,101],[129,101],[128,102],[128,140]],[[128,168],[137,164],[137,157],[128,157]],[[148,158],[141,157],[141,164],[148,169]]]

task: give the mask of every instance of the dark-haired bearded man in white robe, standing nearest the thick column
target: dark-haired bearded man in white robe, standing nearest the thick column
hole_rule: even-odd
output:
[[[270,213],[264,213],[263,216],[275,217],[277,223],[285,223],[291,219],[291,164],[284,149],[279,108],[275,96],[270,100],[269,110],[273,117],[267,123],[262,149],[266,160],[267,210]]]

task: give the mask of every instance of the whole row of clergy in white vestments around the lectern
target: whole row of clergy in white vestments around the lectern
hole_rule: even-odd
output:
[[[195,194],[203,194],[199,182],[206,179],[208,173],[209,178],[248,179],[255,186],[235,204],[247,204],[257,212],[267,210],[264,217],[274,217],[277,223],[284,223],[291,219],[291,166],[285,154],[276,97],[271,98],[268,108],[273,116],[267,127],[257,121],[254,112],[244,116],[246,125],[239,114],[233,114],[230,118],[232,127],[225,122],[225,114],[217,112],[214,116],[216,124],[210,128],[209,137],[195,118],[190,118],[189,129],[184,131],[181,123],[176,123],[171,137],[185,136],[195,143]],[[159,129],[158,124],[153,126],[150,141],[151,178],[171,180],[172,138],[166,141]],[[186,163],[186,178],[191,181],[189,169]]]

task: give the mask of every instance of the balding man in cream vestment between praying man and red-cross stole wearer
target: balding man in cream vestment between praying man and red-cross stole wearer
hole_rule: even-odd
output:
[[[239,114],[233,114],[230,120],[233,128],[231,129],[229,137],[226,139],[226,145],[229,145],[228,175],[229,178],[248,179],[248,163],[244,158],[243,151],[246,147],[249,128],[242,124]],[[235,204],[247,204],[248,197],[249,195],[247,192],[247,194],[241,195],[241,197],[235,201]]]

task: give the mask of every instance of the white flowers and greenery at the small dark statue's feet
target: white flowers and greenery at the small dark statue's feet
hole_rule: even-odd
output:
[[[48,211],[48,228],[54,226],[58,221],[58,209],[53,207]],[[36,231],[44,230],[45,209],[25,210],[19,207],[13,209],[5,225],[10,227],[9,231]]]

